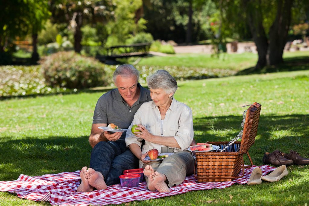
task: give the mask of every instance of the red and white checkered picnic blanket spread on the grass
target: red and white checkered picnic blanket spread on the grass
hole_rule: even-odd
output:
[[[170,188],[170,192],[149,191],[146,182],[139,187],[121,187],[120,184],[108,186],[105,190],[92,192],[76,192],[79,185],[79,172],[61,172],[59,174],[45,174],[43,176],[30,177],[21,174],[17,180],[0,182],[0,191],[16,193],[20,198],[34,201],[49,201],[51,205],[107,205],[121,204],[134,200],[149,200],[153,198],[182,194],[193,190],[222,189],[231,185],[245,184],[254,169],[245,169],[242,178],[228,182],[197,183],[193,175],[186,177],[183,183]],[[273,171],[275,167],[259,166],[263,175]],[[242,173],[242,172],[241,172]]]

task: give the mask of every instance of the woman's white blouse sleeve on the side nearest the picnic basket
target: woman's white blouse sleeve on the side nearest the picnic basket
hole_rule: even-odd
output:
[[[182,150],[187,149],[193,141],[193,115],[190,107],[184,107],[180,112],[179,128],[174,138]]]

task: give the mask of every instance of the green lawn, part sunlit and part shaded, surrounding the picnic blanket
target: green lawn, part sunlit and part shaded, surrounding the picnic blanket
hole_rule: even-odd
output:
[[[253,58],[253,57],[252,57]],[[40,176],[88,166],[95,103],[106,90],[0,101],[0,181],[19,174]],[[197,142],[228,141],[241,130],[247,105],[262,105],[255,165],[265,152],[298,151],[309,158],[309,71],[233,76],[179,82],[175,98],[193,110]],[[248,163],[248,161],[247,161]],[[309,166],[289,166],[279,182],[134,201],[122,205],[307,205]],[[0,205],[49,205],[0,192]]]

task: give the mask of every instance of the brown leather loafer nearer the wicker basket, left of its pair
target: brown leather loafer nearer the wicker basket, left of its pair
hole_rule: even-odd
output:
[[[285,158],[279,150],[275,150],[272,153],[265,152],[263,162],[274,166],[293,165],[293,160]]]

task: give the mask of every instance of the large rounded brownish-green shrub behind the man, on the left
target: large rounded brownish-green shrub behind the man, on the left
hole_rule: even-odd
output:
[[[58,52],[42,62],[45,82],[52,87],[89,88],[107,85],[104,64],[74,52]]]

